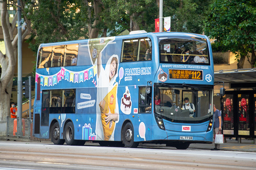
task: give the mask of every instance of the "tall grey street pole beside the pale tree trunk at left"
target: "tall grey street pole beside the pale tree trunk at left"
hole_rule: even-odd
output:
[[[18,112],[17,117],[18,131],[17,137],[22,135],[22,24],[21,24],[21,8],[20,0],[18,0]]]

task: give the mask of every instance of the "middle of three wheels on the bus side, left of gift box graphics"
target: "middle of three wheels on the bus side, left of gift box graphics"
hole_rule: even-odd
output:
[[[75,129],[72,122],[68,122],[67,125],[65,125],[64,137],[67,145],[77,145],[77,141],[75,140]]]

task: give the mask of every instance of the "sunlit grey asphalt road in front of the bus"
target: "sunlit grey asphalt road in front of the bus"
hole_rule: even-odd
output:
[[[255,152],[0,141],[0,169],[255,169]]]

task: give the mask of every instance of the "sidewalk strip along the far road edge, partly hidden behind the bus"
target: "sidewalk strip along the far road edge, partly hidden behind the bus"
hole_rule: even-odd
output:
[[[30,141],[28,138],[16,138],[16,137],[6,137],[0,136],[1,141],[20,141],[20,142],[44,142],[44,143],[52,143],[49,141]],[[242,138],[241,143],[238,143],[236,139],[228,139],[226,138],[226,143],[220,145],[220,150],[222,151],[241,151],[241,152],[256,152],[256,144],[253,143],[253,140],[247,140]],[[92,145],[92,143],[88,143]],[[86,145],[86,143],[85,143]],[[141,146],[153,146],[153,147],[166,147],[165,144],[163,145],[156,145],[151,143],[145,143]],[[214,143],[212,144],[203,144],[203,143],[191,143],[189,148],[201,149],[201,150],[210,150],[214,148]],[[213,151],[217,152],[217,151]]]

